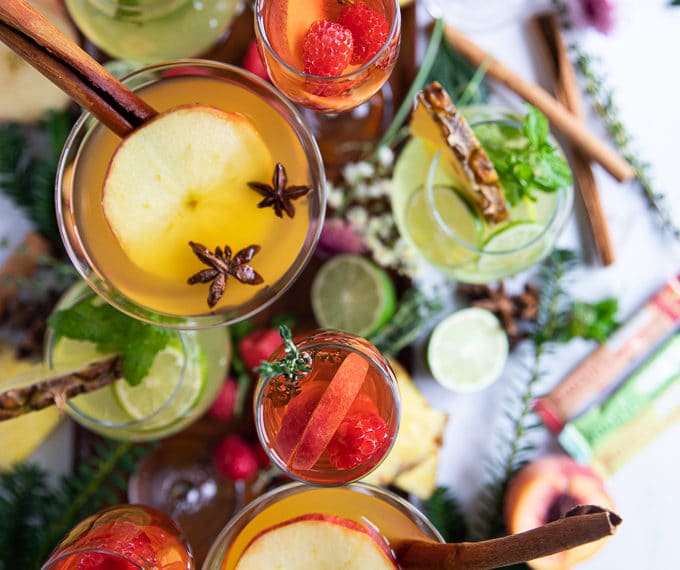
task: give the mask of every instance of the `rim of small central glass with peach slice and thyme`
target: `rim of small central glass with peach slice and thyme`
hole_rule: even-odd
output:
[[[263,419],[263,414],[262,411],[264,409],[264,406],[262,405],[262,401],[265,398],[265,392],[266,388],[269,385],[270,380],[258,380],[256,386],[255,386],[255,397],[253,398],[253,407],[254,407],[254,415],[255,415],[255,430],[257,432],[257,437],[260,441],[260,445],[264,449],[265,453],[269,457],[269,459],[276,465],[281,471],[283,471],[288,477],[291,479],[294,479],[295,481],[298,481],[300,483],[304,483],[306,485],[309,485],[311,487],[342,487],[344,485],[347,485],[349,483],[355,483],[362,479],[363,477],[366,477],[369,473],[373,472],[375,469],[378,468],[378,466],[387,458],[389,455],[390,451],[392,450],[392,447],[394,446],[394,443],[397,439],[397,435],[399,434],[399,428],[401,426],[401,411],[402,411],[402,403],[401,403],[401,394],[399,392],[399,384],[396,378],[396,375],[394,371],[392,370],[392,367],[390,366],[390,363],[387,361],[386,358],[383,358],[383,361],[378,361],[376,358],[374,358],[370,354],[366,354],[365,352],[361,351],[358,348],[348,346],[345,344],[340,344],[339,342],[333,342],[331,340],[326,340],[326,339],[319,339],[316,341],[316,337],[319,337],[324,334],[336,334],[336,335],[342,335],[343,337],[346,337],[350,340],[359,340],[361,342],[368,342],[366,339],[363,339],[361,337],[357,337],[355,335],[351,335],[349,333],[345,333],[343,331],[336,331],[332,329],[318,329],[315,331],[311,331],[308,334],[305,334],[304,337],[296,337],[295,343],[300,346],[300,344],[304,343],[304,348],[303,350],[308,350],[308,349],[315,349],[315,348],[334,348],[341,346],[343,350],[346,351],[351,351],[355,352],[356,354],[361,355],[363,358],[366,358],[369,361],[369,366],[373,366],[375,369],[380,370],[381,376],[383,377],[385,384],[389,387],[390,393],[392,394],[392,399],[394,401],[394,413],[395,413],[395,423],[394,423],[394,436],[390,440],[389,446],[385,450],[385,453],[383,456],[380,458],[380,461],[378,461],[375,465],[373,465],[368,471],[365,471],[363,473],[359,473],[355,476],[353,476],[350,479],[346,479],[344,481],[340,482],[324,482],[324,481],[312,481],[309,479],[306,479],[305,477],[298,475],[297,473],[293,473],[289,471],[286,468],[286,465],[279,460],[278,456],[273,453],[273,450],[270,448],[269,445],[266,444],[267,437],[266,437],[266,430],[264,428],[264,419]],[[309,344],[307,344],[309,343]],[[371,345],[372,346],[372,345]],[[377,349],[376,349],[377,350]]]

